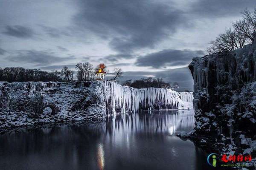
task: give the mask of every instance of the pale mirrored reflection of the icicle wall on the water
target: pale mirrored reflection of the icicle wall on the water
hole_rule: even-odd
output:
[[[147,112],[146,112],[147,113]],[[105,133],[122,136],[132,133],[170,133],[177,130],[191,130],[194,127],[194,112],[189,111],[155,111],[151,114],[121,114],[106,120]],[[96,128],[98,130],[98,128]]]

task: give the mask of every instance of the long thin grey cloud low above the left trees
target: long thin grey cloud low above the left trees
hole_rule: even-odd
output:
[[[56,62],[63,62],[74,59],[75,57],[57,57],[45,51],[35,50],[20,50],[14,56],[9,56],[7,59],[12,62],[20,62],[27,64],[34,64],[35,66],[50,65]]]

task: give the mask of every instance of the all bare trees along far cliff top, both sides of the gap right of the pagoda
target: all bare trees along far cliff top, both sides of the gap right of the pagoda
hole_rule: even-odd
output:
[[[22,67],[6,67],[0,68],[0,81],[7,81],[7,82],[28,82],[28,81],[64,81],[64,82],[74,82],[75,80],[78,81],[87,81],[87,80],[94,80],[96,76],[96,71],[99,69],[105,72],[105,75],[109,73],[107,70],[107,66],[104,63],[101,63],[93,68],[93,65],[89,62],[81,63],[79,62],[76,65],[76,70],[70,69],[67,66],[64,66],[61,71],[52,70],[50,72],[42,71],[40,69],[28,69]],[[76,72],[76,76],[75,76]],[[113,75],[110,80],[116,80],[123,75],[123,71],[121,68],[114,68]],[[122,85],[127,85],[133,88],[172,88],[176,89],[179,88],[179,84],[177,82],[165,82],[162,78],[141,78],[138,80],[126,80],[122,82]]]

